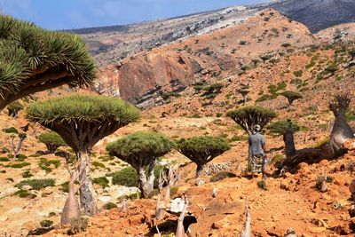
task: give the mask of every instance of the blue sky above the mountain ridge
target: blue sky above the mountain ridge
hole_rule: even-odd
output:
[[[0,12],[48,29],[91,28],[157,20],[267,0],[0,0]]]

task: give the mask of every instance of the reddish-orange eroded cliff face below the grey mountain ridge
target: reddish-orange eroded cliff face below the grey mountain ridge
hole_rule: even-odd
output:
[[[272,9],[242,24],[194,36],[102,68],[97,91],[121,96],[138,107],[162,102],[164,91],[183,91],[198,81],[213,83],[241,74],[248,63],[289,45],[316,43],[304,25]]]

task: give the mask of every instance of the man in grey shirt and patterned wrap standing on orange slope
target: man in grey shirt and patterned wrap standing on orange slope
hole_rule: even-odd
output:
[[[263,179],[266,178],[266,165],[267,158],[265,154],[265,138],[259,133],[261,127],[256,125],[254,130],[248,137],[249,145],[249,157],[248,157],[248,169],[253,173],[263,173]]]

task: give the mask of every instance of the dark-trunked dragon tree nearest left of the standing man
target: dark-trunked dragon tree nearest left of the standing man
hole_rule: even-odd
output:
[[[231,148],[225,139],[210,136],[182,138],[177,141],[176,147],[178,152],[197,164],[196,177],[201,175],[208,162]]]

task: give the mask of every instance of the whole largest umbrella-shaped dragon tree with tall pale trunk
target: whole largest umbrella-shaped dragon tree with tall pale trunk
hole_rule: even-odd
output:
[[[85,215],[97,213],[90,178],[91,148],[101,138],[138,120],[138,109],[114,97],[74,95],[30,104],[27,118],[56,131],[85,167],[79,180],[80,202]]]

